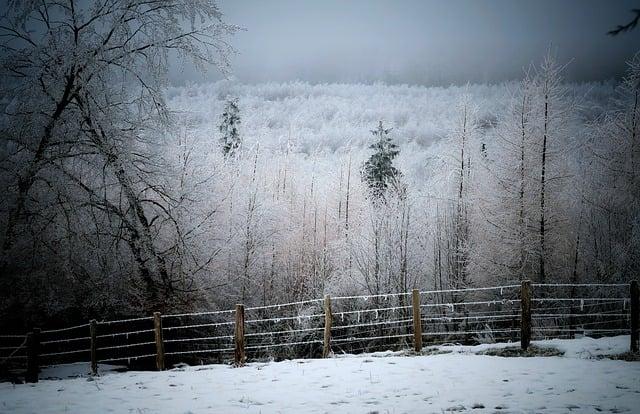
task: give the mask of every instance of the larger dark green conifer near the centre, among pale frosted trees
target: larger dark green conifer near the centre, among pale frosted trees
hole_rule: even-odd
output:
[[[378,128],[371,131],[377,141],[369,146],[374,150],[374,153],[362,168],[362,179],[369,187],[374,199],[384,198],[389,186],[401,191],[399,180],[402,173],[393,166],[393,159],[400,151],[398,151],[398,146],[391,141],[389,132],[391,132],[391,128],[384,128],[382,121],[378,124]]]

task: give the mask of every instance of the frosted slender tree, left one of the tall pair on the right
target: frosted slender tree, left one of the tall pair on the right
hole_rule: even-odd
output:
[[[534,80],[526,73],[498,115],[486,179],[481,180],[484,242],[477,246],[473,270],[491,275],[493,282],[532,278],[537,272],[535,93]]]

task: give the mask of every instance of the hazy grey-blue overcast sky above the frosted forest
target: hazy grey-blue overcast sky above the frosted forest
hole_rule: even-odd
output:
[[[241,82],[304,80],[447,85],[519,78],[551,45],[566,77],[619,76],[640,50],[640,0],[220,0]],[[219,79],[175,65],[175,84]]]

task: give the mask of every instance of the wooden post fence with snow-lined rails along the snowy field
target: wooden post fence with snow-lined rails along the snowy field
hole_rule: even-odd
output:
[[[607,296],[602,296],[606,291]],[[630,284],[532,284],[325,296],[322,299],[112,321],[0,335],[0,367],[26,372],[71,362],[163,370],[181,361],[329,357],[442,343],[630,334],[638,352],[639,293]],[[155,363],[151,361],[155,360]],[[142,361],[142,362],[141,362]]]

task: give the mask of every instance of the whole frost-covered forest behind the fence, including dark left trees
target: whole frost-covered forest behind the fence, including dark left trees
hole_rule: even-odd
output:
[[[230,74],[210,1],[13,2],[0,25],[0,320],[640,270],[640,55],[565,80],[172,86]],[[186,22],[186,23],[185,23]]]

